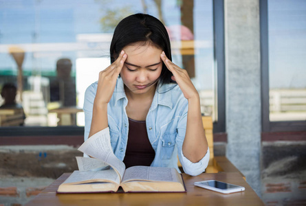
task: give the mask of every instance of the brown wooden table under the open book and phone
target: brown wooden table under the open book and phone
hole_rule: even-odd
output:
[[[264,205],[238,172],[203,173],[199,176],[183,174],[186,193],[56,194],[58,185],[69,174],[64,173],[27,205]],[[209,179],[241,185],[245,191],[221,194],[193,185],[195,181]]]

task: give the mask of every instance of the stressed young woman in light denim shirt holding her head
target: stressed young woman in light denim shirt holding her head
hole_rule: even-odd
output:
[[[113,152],[132,165],[197,175],[208,165],[199,94],[186,70],[171,62],[164,25],[148,14],[120,21],[111,65],[85,93],[85,140],[109,127]]]

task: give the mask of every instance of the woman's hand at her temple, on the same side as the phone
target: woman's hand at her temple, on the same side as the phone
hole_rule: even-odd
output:
[[[182,69],[171,62],[171,60],[166,57],[164,52],[160,54],[160,57],[162,58],[166,67],[173,73],[171,79],[177,82],[179,88],[184,94],[184,97],[187,100],[190,98],[199,98],[199,93],[197,93],[197,89],[195,89],[193,82],[191,82],[186,69]]]

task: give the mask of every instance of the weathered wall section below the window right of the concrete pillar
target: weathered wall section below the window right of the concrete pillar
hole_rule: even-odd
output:
[[[306,141],[265,141],[261,158],[265,204],[306,205]]]

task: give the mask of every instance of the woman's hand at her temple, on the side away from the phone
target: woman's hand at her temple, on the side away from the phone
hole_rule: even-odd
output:
[[[116,59],[105,70],[100,71],[98,79],[98,89],[94,100],[95,106],[108,104],[116,87],[116,81],[120,71],[127,60],[127,54],[122,50]]]

